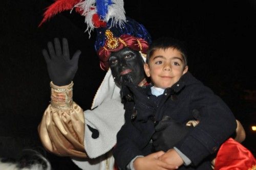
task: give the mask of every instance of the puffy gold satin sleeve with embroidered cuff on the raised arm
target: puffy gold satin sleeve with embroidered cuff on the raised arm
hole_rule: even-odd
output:
[[[87,157],[84,151],[83,110],[72,101],[73,82],[56,86],[52,82],[51,104],[38,126],[44,147],[59,156]]]

